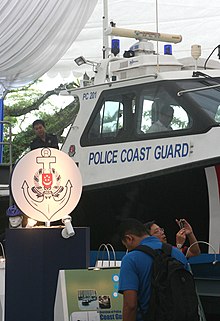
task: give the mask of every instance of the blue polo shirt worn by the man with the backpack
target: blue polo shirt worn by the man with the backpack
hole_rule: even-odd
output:
[[[162,242],[155,236],[149,236],[140,242],[152,249],[161,249]],[[172,248],[172,257],[182,262],[187,269],[185,256],[175,247]],[[151,294],[151,266],[153,258],[141,251],[127,253],[121,263],[119,278],[119,293],[125,290],[135,290],[138,293],[138,306],[146,312]],[[141,313],[137,313],[137,321],[142,321]]]

